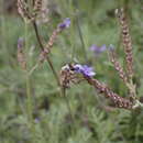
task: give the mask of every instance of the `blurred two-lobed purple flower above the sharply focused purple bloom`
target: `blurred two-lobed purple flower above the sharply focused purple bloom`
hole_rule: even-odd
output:
[[[95,52],[96,55],[105,52],[106,50],[107,50],[106,45],[102,45],[102,46],[99,47],[99,46],[94,44],[94,45],[90,46],[90,51]]]

